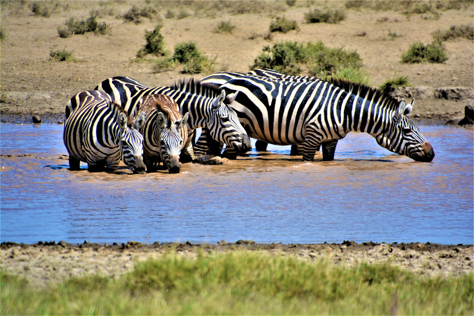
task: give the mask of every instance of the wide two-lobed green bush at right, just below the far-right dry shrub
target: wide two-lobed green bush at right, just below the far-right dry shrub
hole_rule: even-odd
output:
[[[421,42],[414,42],[410,44],[408,51],[401,55],[402,63],[443,63],[447,61],[447,53],[443,45],[434,42],[428,45],[423,45]]]

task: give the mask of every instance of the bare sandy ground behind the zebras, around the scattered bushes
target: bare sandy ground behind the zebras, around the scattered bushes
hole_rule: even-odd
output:
[[[66,19],[87,18],[91,9],[101,8],[99,1],[83,3],[52,13],[49,18],[34,16],[26,7],[12,9],[3,4],[1,27],[7,32],[7,38],[0,46],[2,122],[31,122],[32,115],[36,114],[44,121],[55,123],[63,119],[65,105],[74,94],[93,89],[112,76],[129,76],[149,86],[170,85],[184,76],[180,68],[152,73],[153,63],[133,61],[138,49],[145,44],[144,31],[153,29],[158,22],[156,19],[141,18],[141,23],[135,24],[115,16],[130,9],[132,4],[146,6],[145,2],[121,1],[107,7],[113,9],[113,15],[105,15],[98,21],[110,24],[110,35],[86,33],[60,38],[56,28],[63,25]],[[401,89],[398,95],[415,98],[411,114],[415,120],[434,124],[453,120],[451,123],[455,124],[464,117],[464,107],[473,98],[472,40],[445,42],[449,55],[446,63],[403,64],[399,61],[410,43],[421,41],[428,44],[432,41],[431,32],[437,29],[472,25],[472,7],[439,11],[441,16],[438,20],[424,19],[419,14],[407,17],[393,11],[346,10],[346,19],[339,24],[308,24],[303,19],[304,13],[309,10],[308,5],[309,2],[302,1],[289,8],[282,1],[282,10],[260,14],[230,14],[226,10],[192,14],[192,9],[183,7],[191,13],[190,17],[183,19],[163,18],[166,12],[163,8],[159,12],[164,25],[161,33],[170,51],[173,51],[175,44],[191,40],[207,56],[217,56],[214,71],[247,72],[262,47],[276,41],[322,40],[329,47],[356,50],[373,85],[380,85],[387,78],[408,75],[412,87]],[[343,1],[328,5],[343,7]],[[175,11],[178,9],[178,6],[174,8]],[[301,31],[275,32],[272,42],[262,37],[249,39],[254,32],[264,34],[277,16],[296,20]],[[232,34],[212,32],[220,21],[227,20],[237,26]],[[389,31],[400,37],[390,39]],[[366,35],[356,36],[361,32]],[[73,55],[81,62],[49,61],[50,51],[64,47],[73,50]],[[204,75],[196,74],[195,77],[199,79]]]

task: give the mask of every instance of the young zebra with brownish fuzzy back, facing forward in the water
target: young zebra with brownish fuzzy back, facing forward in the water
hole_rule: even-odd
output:
[[[178,105],[164,94],[149,94],[139,100],[145,112],[145,124],[140,128],[143,141],[143,162],[147,170],[163,163],[170,173],[181,170],[178,157],[188,138],[186,121],[189,113],[181,115]]]

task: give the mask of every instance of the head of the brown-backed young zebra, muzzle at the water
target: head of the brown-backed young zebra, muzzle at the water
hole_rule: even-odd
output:
[[[178,173],[181,170],[179,155],[182,148],[182,137],[179,129],[183,128],[188,121],[189,113],[172,123],[171,118],[166,119],[162,112],[156,116],[158,126],[158,139],[160,141],[160,158],[168,168],[169,173]]]

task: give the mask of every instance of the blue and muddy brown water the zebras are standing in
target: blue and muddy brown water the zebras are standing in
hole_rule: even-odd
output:
[[[269,145],[225,165],[134,175],[69,171],[63,126],[0,124],[0,241],[473,244],[473,131],[420,130],[431,163],[352,133],[333,162]]]

